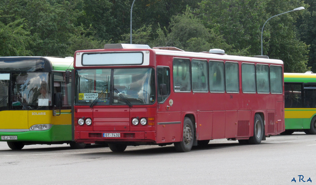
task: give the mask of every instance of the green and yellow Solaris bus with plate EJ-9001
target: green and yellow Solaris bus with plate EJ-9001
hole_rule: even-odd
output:
[[[21,150],[33,144],[72,141],[73,57],[0,57],[0,141]],[[68,75],[67,75],[68,76]]]

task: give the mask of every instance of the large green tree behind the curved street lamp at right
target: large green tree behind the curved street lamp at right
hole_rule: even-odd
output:
[[[205,27],[221,33],[232,47],[227,53],[241,51],[253,56],[261,54],[261,29],[266,20],[307,5],[297,0],[205,0],[200,6],[196,13]],[[300,41],[294,26],[300,14],[298,11],[274,17],[264,27],[264,55],[283,60],[285,72],[307,70],[308,46]]]

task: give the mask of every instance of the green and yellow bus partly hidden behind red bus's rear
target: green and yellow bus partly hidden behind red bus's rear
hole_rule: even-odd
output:
[[[316,74],[284,73],[285,132],[316,134]]]

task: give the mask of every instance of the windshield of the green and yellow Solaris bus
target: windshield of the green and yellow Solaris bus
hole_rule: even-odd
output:
[[[49,79],[48,72],[0,74],[0,109],[47,109],[52,105]]]

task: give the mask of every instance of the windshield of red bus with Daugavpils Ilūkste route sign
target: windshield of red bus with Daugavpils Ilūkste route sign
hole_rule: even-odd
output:
[[[81,69],[76,71],[76,104],[139,105],[155,101],[151,68]]]

